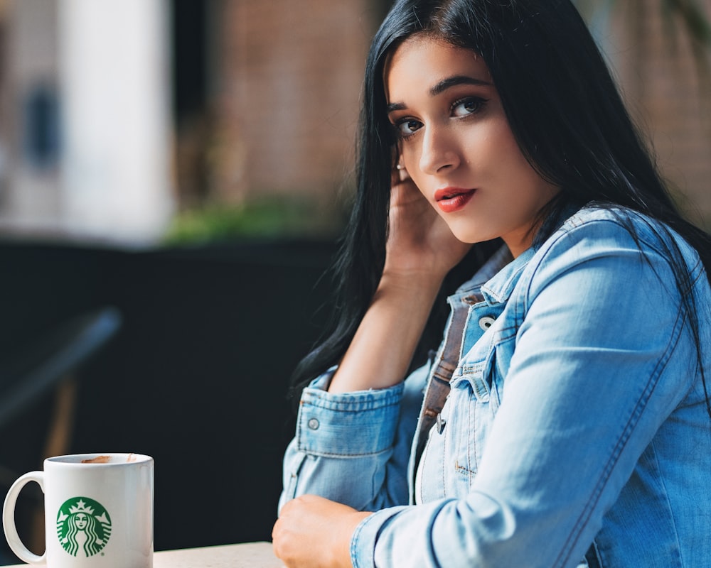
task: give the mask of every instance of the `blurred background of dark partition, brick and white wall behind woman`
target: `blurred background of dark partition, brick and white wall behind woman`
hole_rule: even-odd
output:
[[[578,5],[711,229],[711,0]],[[0,484],[143,452],[156,550],[269,539],[389,6],[0,0]],[[187,522],[193,498],[213,523]],[[36,552],[41,515],[28,487]]]

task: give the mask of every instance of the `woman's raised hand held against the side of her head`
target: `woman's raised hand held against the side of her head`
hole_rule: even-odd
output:
[[[389,233],[384,273],[422,273],[442,280],[471,244],[451,233],[404,168],[392,170]]]

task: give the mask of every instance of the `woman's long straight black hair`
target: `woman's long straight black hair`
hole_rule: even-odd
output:
[[[683,236],[699,253],[711,282],[711,238],[676,209],[570,0],[399,0],[376,33],[365,68],[358,191],[333,271],[333,322],[296,369],[297,392],[345,353],[383,272],[396,143],[385,111],[383,67],[387,55],[414,34],[469,49],[486,62],[523,155],[542,178],[561,187],[541,212],[534,246],[552,234],[572,205],[622,206],[662,222],[653,224],[658,231],[670,227]],[[624,216],[620,219],[624,222]],[[636,237],[631,223],[626,226]],[[668,256],[683,298],[681,309],[701,365],[698,315],[694,295],[688,293],[693,283],[673,240],[663,241],[671,243]],[[459,278],[461,283],[471,275],[497,245],[476,244],[445,280],[443,292],[451,281]],[[435,312],[429,327],[441,328],[442,317]],[[707,405],[711,415],[711,403]]]

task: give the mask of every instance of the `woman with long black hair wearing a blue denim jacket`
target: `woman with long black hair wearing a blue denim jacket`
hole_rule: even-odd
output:
[[[574,7],[397,1],[361,123],[339,320],[301,366],[322,374],[284,459],[277,556],[711,565],[710,239]]]

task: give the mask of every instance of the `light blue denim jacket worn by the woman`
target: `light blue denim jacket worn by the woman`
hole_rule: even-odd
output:
[[[670,242],[621,213],[637,242],[611,212],[581,209],[449,298],[466,304],[461,351],[421,456],[437,359],[378,391],[326,393],[333,370],[317,378],[280,506],[315,493],[377,511],[353,534],[358,568],[711,567],[711,420]],[[711,385],[711,291],[675,243]]]

